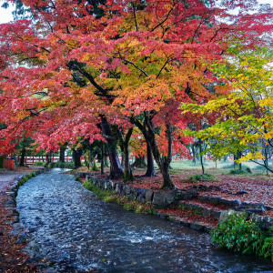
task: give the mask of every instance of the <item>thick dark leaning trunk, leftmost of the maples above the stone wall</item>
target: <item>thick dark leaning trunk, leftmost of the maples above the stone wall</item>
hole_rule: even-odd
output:
[[[124,171],[120,164],[117,152],[115,139],[112,136],[110,126],[105,116],[101,116],[101,126],[103,134],[106,137],[107,151],[110,160],[110,178],[119,179],[124,177]]]

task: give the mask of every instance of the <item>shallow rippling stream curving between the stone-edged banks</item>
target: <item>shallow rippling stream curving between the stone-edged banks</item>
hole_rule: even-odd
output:
[[[273,272],[263,258],[218,250],[210,237],[103,202],[52,169],[19,188],[20,225],[60,272]]]

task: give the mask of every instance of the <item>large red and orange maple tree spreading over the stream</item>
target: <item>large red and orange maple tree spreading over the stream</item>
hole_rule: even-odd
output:
[[[163,187],[170,188],[174,148],[188,155],[184,144],[190,140],[177,135],[190,118],[181,116],[177,106],[216,96],[207,88],[216,81],[207,64],[227,54],[232,38],[244,48],[262,43],[257,37],[269,30],[272,16],[250,15],[255,1],[22,3],[35,20],[0,26],[0,122],[8,125],[7,146],[12,144],[8,132],[15,130],[19,137],[24,128],[36,132],[41,147],[49,149],[78,136],[92,142],[101,139],[100,124],[111,177],[121,177],[112,130],[117,126],[130,132],[130,122],[151,148]],[[237,7],[238,15],[227,13]],[[13,106],[11,116],[7,104]],[[126,153],[128,143],[126,139]]]

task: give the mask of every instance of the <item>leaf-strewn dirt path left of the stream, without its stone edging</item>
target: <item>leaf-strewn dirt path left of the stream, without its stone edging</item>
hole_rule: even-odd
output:
[[[30,167],[20,167],[13,171],[0,170],[0,272],[35,272],[31,265],[25,265],[27,255],[22,251],[24,244],[17,242],[17,235],[13,235],[14,207],[7,204],[9,197],[5,191],[13,183],[15,177],[32,172]]]

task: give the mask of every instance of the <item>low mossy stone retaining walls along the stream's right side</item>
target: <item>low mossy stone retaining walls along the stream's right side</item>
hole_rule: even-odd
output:
[[[156,215],[171,219],[183,226],[191,227],[197,230],[205,230],[209,232],[210,225],[206,224],[206,220],[192,221],[184,218],[174,218],[167,213],[161,213],[160,208],[179,207],[184,210],[194,211],[201,217],[214,217],[223,220],[225,216],[233,211],[246,211],[251,221],[257,222],[259,227],[269,229],[273,226],[273,218],[262,216],[266,210],[273,207],[265,206],[263,203],[241,202],[239,199],[225,199],[223,197],[215,197],[212,195],[201,195],[199,192],[209,191],[210,188],[205,185],[194,185],[191,188],[175,189],[171,192],[155,191],[146,188],[133,187],[123,183],[116,183],[109,179],[101,179],[91,176],[89,173],[78,173],[81,178],[91,178],[96,187],[103,190],[113,191],[121,197],[127,197],[129,201],[138,201],[141,203],[151,203],[157,209]]]

